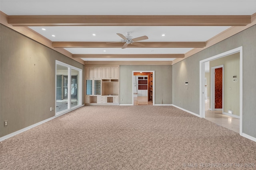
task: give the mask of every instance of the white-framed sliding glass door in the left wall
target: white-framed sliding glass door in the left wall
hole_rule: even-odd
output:
[[[81,105],[82,70],[56,61],[56,115]]]

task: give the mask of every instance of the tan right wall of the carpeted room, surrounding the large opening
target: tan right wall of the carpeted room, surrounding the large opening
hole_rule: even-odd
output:
[[[255,39],[256,25],[172,65],[172,103],[176,106],[199,114],[200,61],[242,46],[242,132],[252,137],[256,137],[256,79],[254,78],[256,77]],[[189,85],[191,90],[189,93],[184,93],[184,86],[182,86],[182,84],[184,84],[185,81],[192,82],[192,84]],[[180,104],[179,102],[181,99],[184,99],[183,104]]]

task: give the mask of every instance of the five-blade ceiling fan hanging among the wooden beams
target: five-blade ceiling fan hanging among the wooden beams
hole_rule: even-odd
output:
[[[120,33],[116,33],[119,37],[122,38],[121,42],[125,43],[122,47],[122,49],[125,49],[129,44],[133,44],[139,47],[145,47],[144,44],[141,43],[137,43],[135,41],[141,41],[141,40],[145,40],[148,39],[148,37],[146,35],[142,36],[142,37],[137,37],[137,38],[133,38],[132,36],[130,36],[130,33],[127,33],[127,36],[124,36]],[[110,43],[120,43],[119,42],[110,42]]]

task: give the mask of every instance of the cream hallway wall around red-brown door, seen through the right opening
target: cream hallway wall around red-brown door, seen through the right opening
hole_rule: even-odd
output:
[[[210,75],[211,68],[214,66],[224,65],[224,112],[233,110],[234,115],[240,115],[239,98],[240,98],[240,53],[235,53],[210,61]],[[233,76],[237,76],[237,82],[233,82]],[[210,76],[211,77],[211,76]],[[211,79],[210,79],[211,84]],[[211,94],[210,94],[211,96]],[[211,98],[210,98],[211,104]],[[210,105],[210,108],[212,106]]]

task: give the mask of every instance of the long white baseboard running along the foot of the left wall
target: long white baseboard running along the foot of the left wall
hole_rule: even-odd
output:
[[[75,110],[75,109],[78,109],[78,108],[80,108],[80,107],[82,107],[82,106],[84,106],[84,105],[80,105],[80,106],[74,107],[74,108],[72,108],[72,109],[70,109],[70,110],[68,110],[68,111],[64,111],[64,112],[62,112],[62,113],[60,113],[60,114],[58,114],[58,115],[55,115],[54,117],[50,117],[50,118],[48,118],[48,119],[45,119],[45,120],[40,121],[40,122],[38,122],[38,123],[35,123],[34,125],[30,125],[30,126],[28,126],[28,127],[25,127],[25,128],[23,128],[23,129],[20,129],[20,130],[18,130],[18,131],[16,131],[16,132],[13,132],[13,133],[10,133],[10,134],[5,135],[5,136],[3,136],[3,137],[0,137],[0,142],[1,142],[1,141],[4,141],[5,139],[8,139],[8,138],[10,138],[10,137],[13,137],[13,136],[15,136],[15,135],[18,135],[18,134],[20,134],[20,133],[22,133],[22,132],[24,132],[24,131],[27,131],[27,130],[33,128],[33,127],[36,127],[36,126],[38,126],[38,125],[41,125],[42,123],[45,123],[45,122],[47,122],[47,121],[50,121],[50,120],[52,120],[52,119],[54,119],[54,118],[56,118],[56,117],[59,117],[59,116],[61,116],[61,115],[64,115],[64,114],[66,114],[66,113],[68,113],[68,112],[70,112],[70,111],[73,111],[73,110]]]

